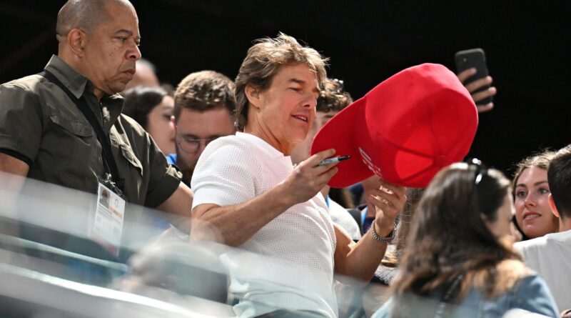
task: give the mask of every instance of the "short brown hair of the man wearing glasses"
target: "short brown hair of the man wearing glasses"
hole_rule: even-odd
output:
[[[226,107],[234,118],[236,97],[234,82],[217,71],[196,71],[188,74],[174,93],[174,117],[178,120],[181,109],[207,111]]]

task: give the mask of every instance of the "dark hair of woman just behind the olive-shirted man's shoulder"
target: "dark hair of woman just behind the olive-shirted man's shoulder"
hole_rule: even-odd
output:
[[[161,104],[168,93],[161,87],[135,86],[125,91],[123,96],[123,114],[135,119],[143,129],[147,129],[148,113]]]

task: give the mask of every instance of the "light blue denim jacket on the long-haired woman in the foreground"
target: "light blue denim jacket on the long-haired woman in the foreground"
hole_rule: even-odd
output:
[[[402,314],[398,314],[398,317],[434,317],[439,304],[440,297],[406,295],[403,310],[399,310]],[[394,299],[390,297],[373,314],[373,318],[393,317],[394,306]],[[473,289],[460,304],[447,304],[443,317],[495,318],[502,317],[510,309],[524,309],[547,317],[559,317],[547,284],[535,274],[523,277],[508,292],[492,299],[486,299],[482,292]]]

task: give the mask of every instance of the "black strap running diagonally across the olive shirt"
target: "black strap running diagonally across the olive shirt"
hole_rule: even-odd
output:
[[[49,71],[43,71],[40,73],[41,76],[44,76],[45,79],[51,81],[52,83],[56,84],[62,91],[64,91],[69,98],[74,101],[77,108],[84,114],[91,127],[93,127],[95,134],[97,135],[97,140],[101,143],[101,148],[103,148],[103,162],[105,171],[108,174],[111,174],[111,180],[115,182],[116,186],[119,189],[123,189],[123,180],[119,178],[117,164],[115,163],[115,158],[113,157],[113,153],[111,152],[111,146],[109,145],[109,139],[103,132],[99,121],[97,121],[95,114],[89,106],[87,105],[87,101],[85,100],[85,96],[81,96],[81,99],[78,99],[71,91],[63,84],[54,74],[51,74]]]

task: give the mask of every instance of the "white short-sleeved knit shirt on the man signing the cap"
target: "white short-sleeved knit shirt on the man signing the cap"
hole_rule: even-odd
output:
[[[252,134],[212,141],[192,177],[193,209],[200,204],[247,202],[283,182],[291,159]],[[295,204],[221,257],[231,277],[229,292],[241,298],[241,317],[274,307],[337,317],[333,289],[335,232],[323,196]]]

